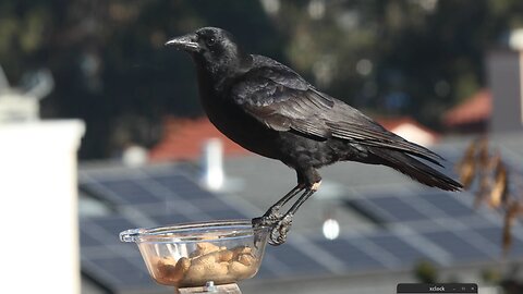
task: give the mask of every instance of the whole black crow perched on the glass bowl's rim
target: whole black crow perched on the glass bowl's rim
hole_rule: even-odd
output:
[[[297,185],[263,217],[253,219],[254,225],[272,226],[272,245],[285,241],[294,213],[319,188],[317,170],[337,161],[384,164],[427,186],[462,188],[415,159],[441,166],[440,156],[388,132],[278,61],[246,53],[227,30],[204,27],[166,45],[191,54],[203,107],[220,132],[296,171]],[[280,213],[281,207],[300,193],[289,211]]]

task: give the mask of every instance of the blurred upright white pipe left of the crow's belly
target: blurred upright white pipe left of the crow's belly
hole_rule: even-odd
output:
[[[202,156],[203,184],[211,191],[223,187],[223,145],[219,138],[205,142]]]

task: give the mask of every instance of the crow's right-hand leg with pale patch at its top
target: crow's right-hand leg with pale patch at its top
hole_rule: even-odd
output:
[[[307,187],[305,192],[297,198],[297,200],[292,205],[291,209],[287,211],[285,216],[281,218],[278,223],[270,231],[269,244],[270,245],[281,245],[285,243],[287,233],[291,229],[292,218],[296,213],[297,209],[311,197],[316,191],[318,191],[321,181],[315,182],[312,186]]]

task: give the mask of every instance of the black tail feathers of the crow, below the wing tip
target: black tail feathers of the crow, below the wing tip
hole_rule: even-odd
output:
[[[462,184],[401,151],[370,148],[370,152],[380,159],[378,160],[379,163],[398,170],[427,186],[446,191],[460,191],[463,188]]]

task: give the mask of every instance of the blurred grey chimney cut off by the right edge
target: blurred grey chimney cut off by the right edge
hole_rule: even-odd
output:
[[[507,48],[489,53],[487,69],[492,93],[490,131],[523,131],[523,30],[510,35]]]

